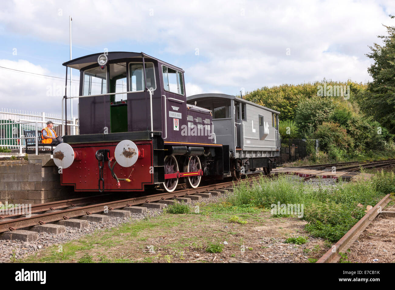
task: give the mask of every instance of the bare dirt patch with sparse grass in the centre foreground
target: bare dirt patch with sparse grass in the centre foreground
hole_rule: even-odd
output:
[[[315,262],[330,248],[305,232],[297,217],[270,211],[218,210],[200,203],[200,213],[170,214],[125,223],[28,256],[23,262]],[[237,217],[239,222],[230,222]],[[303,236],[302,245],[284,243]],[[216,253],[209,253],[211,249]]]

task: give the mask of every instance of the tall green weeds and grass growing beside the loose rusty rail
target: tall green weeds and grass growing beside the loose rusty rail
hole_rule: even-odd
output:
[[[308,222],[305,229],[314,237],[328,242],[338,241],[365,215],[367,205],[374,206],[384,195],[395,192],[393,172],[381,171],[371,180],[345,183],[335,187],[318,189],[301,180],[291,180],[285,175],[276,180],[261,177],[251,188],[241,183],[227,202],[235,207],[270,209],[280,204],[303,205],[303,216]],[[363,204],[359,208],[357,204]],[[273,217],[288,217],[289,214],[274,212]]]

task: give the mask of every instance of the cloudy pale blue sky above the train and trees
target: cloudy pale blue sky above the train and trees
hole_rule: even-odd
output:
[[[187,95],[236,95],[324,78],[368,82],[365,54],[382,43],[383,24],[395,25],[395,2],[6,0],[0,108],[61,112],[69,15],[73,58],[145,52],[184,69]],[[73,108],[77,117],[77,101]]]

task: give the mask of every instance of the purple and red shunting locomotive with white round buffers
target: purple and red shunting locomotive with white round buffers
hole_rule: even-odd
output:
[[[54,154],[62,184],[75,191],[159,184],[171,192],[179,180],[196,188],[207,175],[222,178],[211,110],[186,103],[181,68],[136,52],[91,54],[63,65],[66,79],[68,67],[80,71],[80,87],[79,135],[65,132],[66,145]]]

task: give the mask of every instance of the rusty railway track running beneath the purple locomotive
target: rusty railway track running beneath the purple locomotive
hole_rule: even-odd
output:
[[[249,174],[248,179],[257,178],[261,172]],[[274,174],[272,176],[275,176]],[[36,204],[32,206],[31,216],[26,216],[26,212],[22,214],[5,215],[0,219],[0,233],[15,231],[30,226],[43,225],[45,223],[53,223],[56,221],[92,215],[94,213],[102,213],[105,210],[112,211],[122,208],[129,208],[141,204],[149,204],[162,202],[163,200],[173,198],[193,198],[199,194],[209,193],[210,191],[225,189],[238,181],[227,181],[210,185],[203,185],[196,189],[180,189],[172,193],[161,192],[145,196],[135,196],[120,200],[111,199],[111,194],[90,196],[82,198],[74,198],[69,200],[60,200],[56,202],[48,202],[45,204]],[[198,199],[198,198],[193,198]],[[17,210],[17,209],[16,209]]]

